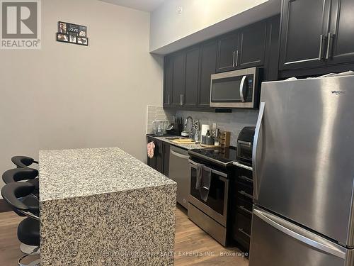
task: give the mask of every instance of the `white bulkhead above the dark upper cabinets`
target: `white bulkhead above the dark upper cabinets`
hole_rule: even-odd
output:
[[[152,12],[150,51],[173,52],[277,13],[280,0],[168,0]]]

